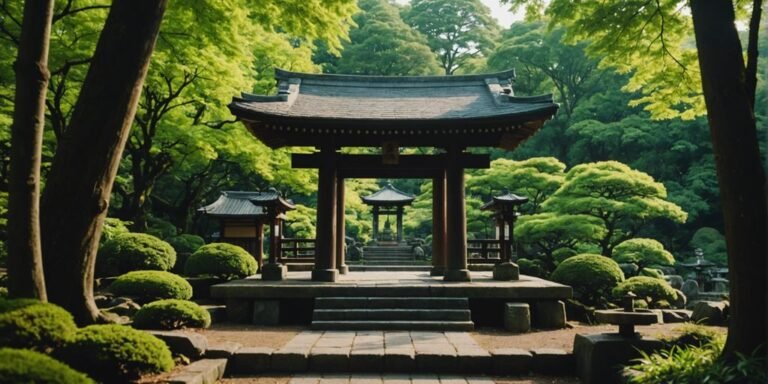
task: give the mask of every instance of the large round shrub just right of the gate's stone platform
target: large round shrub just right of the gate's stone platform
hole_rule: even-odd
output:
[[[597,254],[581,254],[565,259],[550,278],[570,285],[587,304],[603,303],[617,284],[624,281],[624,273],[612,259]]]

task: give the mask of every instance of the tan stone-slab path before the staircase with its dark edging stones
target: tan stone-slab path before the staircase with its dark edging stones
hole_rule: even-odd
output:
[[[571,353],[541,348],[486,351],[466,332],[303,331],[279,349],[225,343],[169,378],[209,383],[213,373],[425,373],[572,375]],[[190,375],[205,376],[191,380]]]

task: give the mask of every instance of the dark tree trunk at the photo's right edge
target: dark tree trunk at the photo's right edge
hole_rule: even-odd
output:
[[[765,172],[733,3],[690,4],[728,243],[731,319],[724,354],[732,357],[766,342]]]

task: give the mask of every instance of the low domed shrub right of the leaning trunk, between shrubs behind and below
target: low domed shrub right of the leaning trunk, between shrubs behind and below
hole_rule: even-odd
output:
[[[134,271],[118,277],[109,290],[118,296],[130,296],[140,302],[161,299],[187,300],[192,286],[181,276],[164,271]]]

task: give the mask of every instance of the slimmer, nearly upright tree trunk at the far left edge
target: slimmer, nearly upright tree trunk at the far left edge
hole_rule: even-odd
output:
[[[8,195],[8,290],[47,300],[40,246],[40,156],[48,89],[53,0],[27,0],[21,25],[11,126]]]

